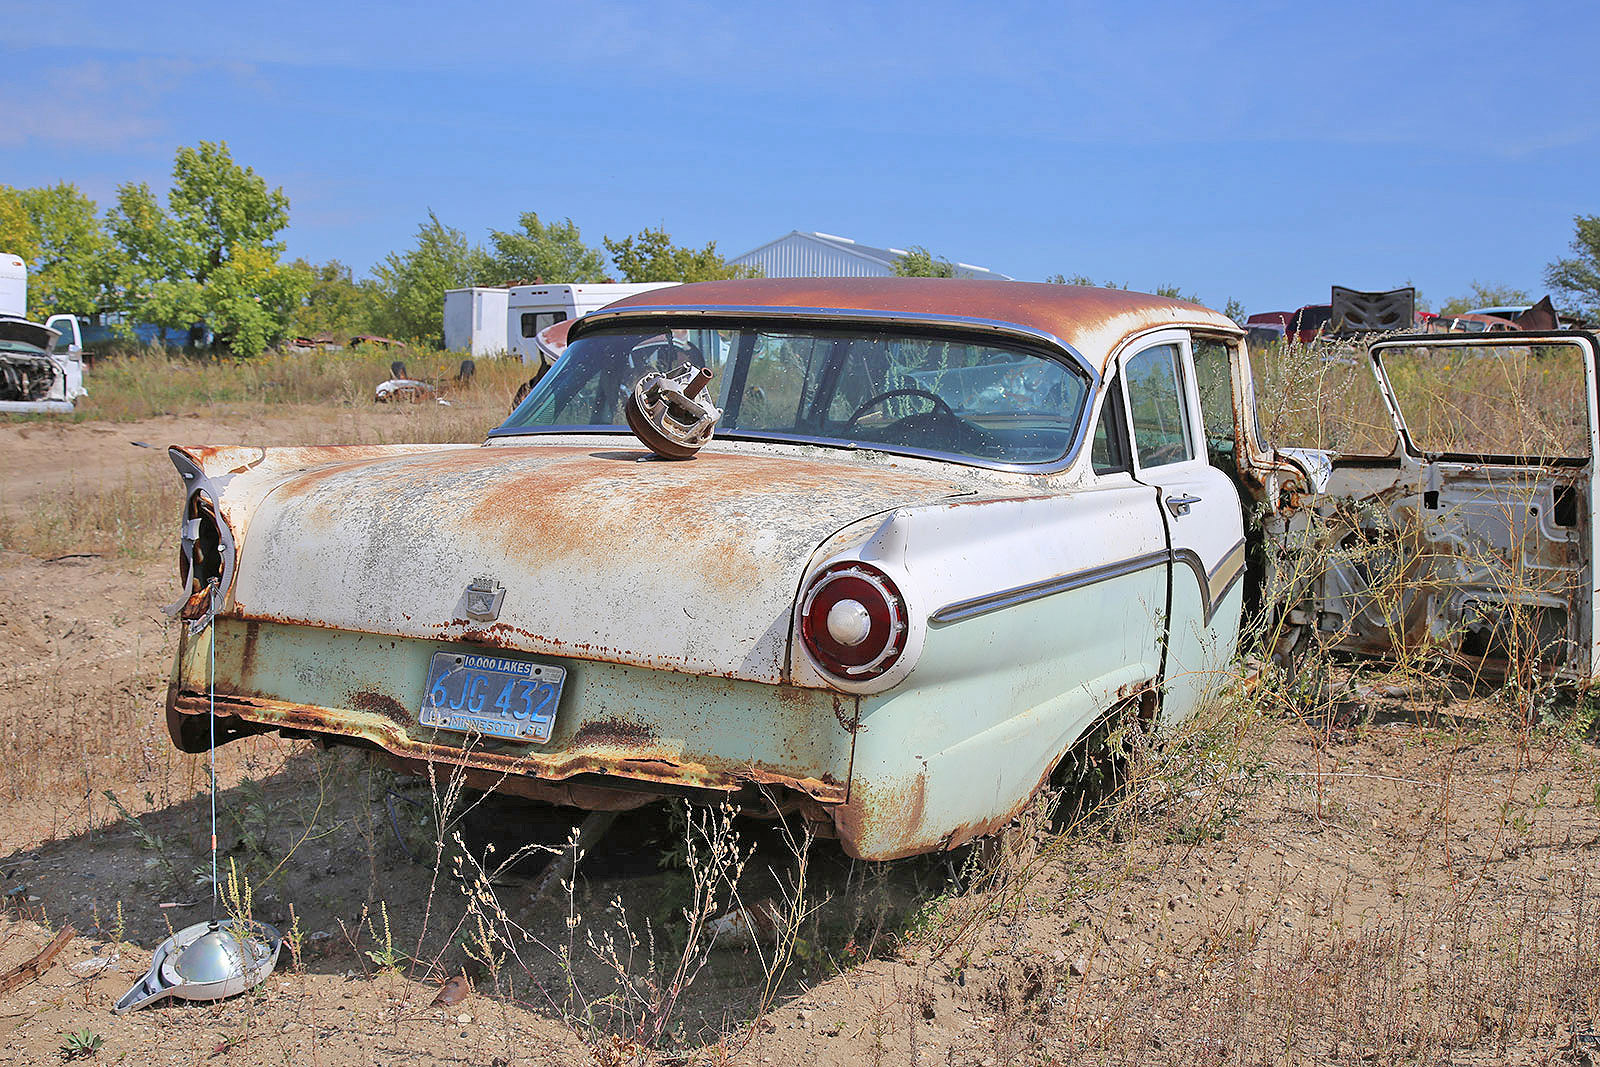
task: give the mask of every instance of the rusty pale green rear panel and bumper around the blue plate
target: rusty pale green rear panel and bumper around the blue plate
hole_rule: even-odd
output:
[[[566,669],[552,737],[542,745],[498,742],[418,723],[427,661],[440,648],[450,645],[219,617],[179,640],[168,731],[179,749],[205,750],[214,701],[218,744],[285,731],[366,747],[411,771],[432,766],[442,777],[461,768],[469,785],[582,808],[779,792],[822,816],[850,797],[854,697],[530,656]]]

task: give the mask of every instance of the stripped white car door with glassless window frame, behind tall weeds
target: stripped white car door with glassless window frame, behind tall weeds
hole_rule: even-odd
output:
[[[1595,336],[1387,336],[1362,347],[1387,451],[1331,456],[1290,520],[1314,560],[1290,622],[1331,646],[1590,686]],[[1307,545],[1314,545],[1307,552]]]

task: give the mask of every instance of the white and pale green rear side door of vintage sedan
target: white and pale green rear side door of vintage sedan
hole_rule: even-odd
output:
[[[1149,334],[1120,365],[1134,477],[1158,491],[1171,560],[1162,715],[1182,718],[1218,693],[1234,659],[1243,512],[1234,483],[1206,459],[1189,334]]]

